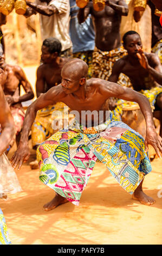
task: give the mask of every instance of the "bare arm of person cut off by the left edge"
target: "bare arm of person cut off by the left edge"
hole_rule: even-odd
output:
[[[0,80],[1,80],[0,74]],[[0,85],[0,124],[1,124],[1,135],[0,135],[0,155],[4,153],[4,151],[8,148],[11,139],[15,133],[14,120],[12,118],[9,105],[5,100],[5,96],[2,90],[2,86]]]

